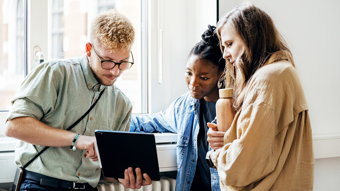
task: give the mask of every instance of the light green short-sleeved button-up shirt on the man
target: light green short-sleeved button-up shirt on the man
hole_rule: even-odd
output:
[[[52,59],[37,66],[23,81],[12,100],[7,120],[35,117],[46,125],[67,129],[95,102],[105,88],[94,77],[87,57]],[[129,131],[132,104],[115,86],[106,87],[95,108],[70,131],[95,136],[95,130]],[[15,148],[17,166],[24,166],[44,146],[19,141]],[[86,151],[50,147],[26,169],[47,176],[89,183],[96,187],[101,169]]]

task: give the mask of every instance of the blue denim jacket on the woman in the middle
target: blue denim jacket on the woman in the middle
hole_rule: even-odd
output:
[[[172,102],[165,111],[152,115],[132,116],[130,131],[178,134],[176,191],[189,191],[195,174],[197,135],[200,128],[199,111],[200,100],[193,99],[188,92]],[[210,168],[210,174],[212,191],[220,191],[217,170]]]

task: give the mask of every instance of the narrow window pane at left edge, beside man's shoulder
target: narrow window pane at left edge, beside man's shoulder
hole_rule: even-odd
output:
[[[0,111],[6,111],[25,75],[24,0],[0,0],[0,10]]]

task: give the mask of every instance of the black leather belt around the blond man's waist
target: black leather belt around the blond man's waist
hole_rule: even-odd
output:
[[[88,183],[75,183],[68,180],[62,180],[58,178],[53,178],[50,176],[45,176],[36,172],[31,172],[28,170],[24,171],[23,178],[40,182],[42,186],[49,186],[54,188],[73,188],[73,189],[85,189],[92,188]]]

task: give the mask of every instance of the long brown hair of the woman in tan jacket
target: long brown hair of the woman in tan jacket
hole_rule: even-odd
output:
[[[257,6],[245,2],[224,14],[216,28],[220,41],[222,28],[228,26],[243,42],[243,48],[236,60],[238,69],[229,60],[226,60],[224,72],[226,87],[232,87],[236,92],[234,106],[238,111],[243,104],[247,83],[259,68],[268,64],[267,61],[273,53],[282,50],[288,51],[289,61],[293,66],[294,61],[273,20]],[[223,52],[224,47],[221,44]]]

